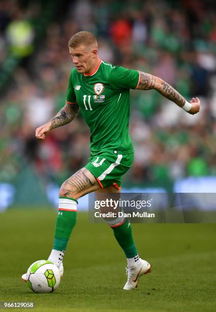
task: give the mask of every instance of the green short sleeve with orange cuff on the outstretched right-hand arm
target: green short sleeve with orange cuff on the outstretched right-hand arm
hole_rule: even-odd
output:
[[[109,76],[110,85],[115,89],[136,89],[139,79],[140,74],[138,70],[128,69],[122,66],[112,68]]]

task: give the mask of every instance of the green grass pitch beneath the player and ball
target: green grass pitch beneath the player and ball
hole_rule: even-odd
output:
[[[216,224],[133,224],[139,254],[152,272],[127,292],[126,259],[112,230],[78,213],[58,289],[32,293],[21,274],[48,257],[55,219],[51,210],[0,215],[0,301],[33,301],[42,312],[216,310]]]

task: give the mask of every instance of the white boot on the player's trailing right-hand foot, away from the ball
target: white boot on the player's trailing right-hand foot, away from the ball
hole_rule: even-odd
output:
[[[125,284],[124,290],[132,290],[137,288],[138,278],[143,274],[147,274],[151,272],[151,265],[140,258],[133,267],[126,267],[126,274],[128,275],[128,280]]]

